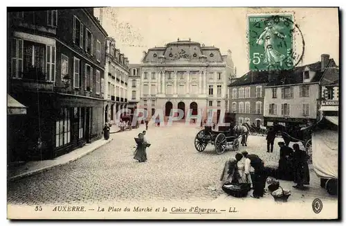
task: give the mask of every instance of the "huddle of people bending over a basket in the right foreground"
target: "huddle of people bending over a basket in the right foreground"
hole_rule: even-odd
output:
[[[263,197],[268,171],[257,155],[249,155],[246,151],[237,153],[234,158],[226,162],[221,180],[224,180],[225,174],[227,174],[226,182],[251,184],[253,189],[251,197]]]

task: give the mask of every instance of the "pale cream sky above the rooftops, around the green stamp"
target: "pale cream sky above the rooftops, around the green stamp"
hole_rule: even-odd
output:
[[[143,51],[190,38],[221,54],[230,49],[239,77],[248,71],[247,16],[275,13],[292,14],[299,26],[295,52],[302,53],[304,37],[298,66],[320,60],[322,53],[339,63],[337,8],[103,8],[102,26],[130,64],[140,63]],[[100,17],[99,8],[95,17]]]

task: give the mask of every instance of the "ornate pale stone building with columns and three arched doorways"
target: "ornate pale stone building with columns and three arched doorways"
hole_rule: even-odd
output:
[[[227,85],[234,76],[230,53],[222,55],[215,46],[179,39],[148,49],[140,70],[141,107],[149,116],[163,110],[165,120],[172,109],[181,109],[183,119],[192,110],[192,115],[203,111],[203,119],[213,114],[217,121],[226,111]]]

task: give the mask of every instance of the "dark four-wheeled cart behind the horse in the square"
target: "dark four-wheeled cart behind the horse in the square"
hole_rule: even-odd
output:
[[[194,138],[194,147],[199,152],[203,152],[208,144],[212,144],[219,155],[230,149],[230,147],[233,150],[238,150],[241,136],[231,136],[230,134],[232,134],[232,130],[215,131],[212,130],[211,126],[205,126],[204,130],[199,131]]]

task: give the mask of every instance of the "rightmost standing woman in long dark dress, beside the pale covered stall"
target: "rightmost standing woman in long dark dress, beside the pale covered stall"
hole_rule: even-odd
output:
[[[295,189],[304,189],[304,184],[309,184],[310,173],[307,160],[309,155],[304,150],[300,150],[298,144],[293,144],[293,168],[294,168],[294,182],[297,185],[293,186]]]

